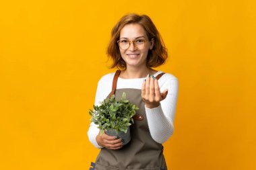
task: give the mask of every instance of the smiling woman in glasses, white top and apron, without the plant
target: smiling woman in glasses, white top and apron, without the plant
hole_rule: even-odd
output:
[[[111,35],[107,53],[113,59],[112,68],[120,71],[98,81],[95,105],[111,91],[117,99],[125,92],[139,110],[130,126],[131,141],[124,146],[121,138],[100,136],[96,124],[90,124],[89,140],[100,148],[94,169],[167,169],[162,143],[174,130],[178,80],[152,69],[167,58],[164,42],[150,17],[134,13],[123,16]]]

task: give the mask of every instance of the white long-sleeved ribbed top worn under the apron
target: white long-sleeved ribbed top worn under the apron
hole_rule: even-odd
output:
[[[160,73],[162,73],[162,71],[158,71],[158,73],[154,74],[154,77]],[[95,105],[99,105],[100,101],[103,101],[112,90],[114,75],[115,73],[109,73],[104,75],[100,81],[98,81],[94,102]],[[138,79],[122,79],[119,77],[117,81],[117,89],[141,89],[143,79],[145,78],[146,77]],[[165,73],[158,80],[158,85],[161,93],[164,89],[168,89],[166,98],[160,101],[160,105],[157,108],[150,109],[145,107],[145,110],[152,138],[158,143],[163,143],[172,136],[174,130],[173,120],[177,104],[178,79],[174,77],[174,75]],[[96,142],[96,136],[99,131],[97,125],[92,122],[88,130],[88,138],[96,148],[102,148],[102,146],[99,146]]]

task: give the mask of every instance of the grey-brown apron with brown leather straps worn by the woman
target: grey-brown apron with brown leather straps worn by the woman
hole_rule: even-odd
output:
[[[130,126],[131,141],[117,150],[101,148],[96,159],[95,170],[166,170],[166,162],[163,155],[162,144],[153,140],[148,127],[145,112],[145,103],[141,98],[141,89],[116,89],[120,71],[117,71],[113,79],[113,91],[108,95],[115,94],[121,98],[123,92],[127,99],[139,107],[133,117],[134,124]],[[157,77],[159,79],[161,75]]]

